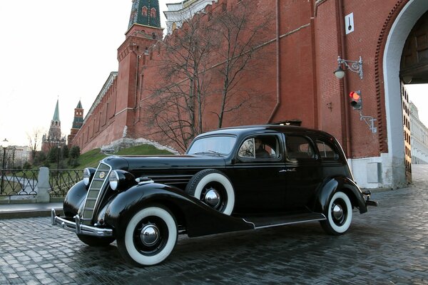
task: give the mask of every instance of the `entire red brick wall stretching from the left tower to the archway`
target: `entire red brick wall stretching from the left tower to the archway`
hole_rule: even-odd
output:
[[[219,0],[218,4],[208,7],[205,21],[223,9],[237,9],[239,2]],[[406,2],[325,0],[315,4],[315,0],[251,1],[258,13],[253,14],[250,21],[258,23],[268,14],[275,19],[278,15],[279,31],[276,33],[276,21],[273,21],[266,31],[260,33],[265,45],[252,58],[258,68],[245,71],[238,86],[238,98],[250,94],[248,104],[228,113],[223,127],[299,119],[303,126],[335,135],[350,157],[378,156],[385,152],[382,146],[386,140],[384,91],[382,78],[378,76],[382,75],[382,51],[379,50],[386,41],[385,30],[399,13],[397,6],[401,7]],[[277,4],[278,14],[275,11]],[[355,31],[343,36],[343,16],[351,12],[354,14]],[[153,100],[153,90],[165,84],[159,67],[164,51],[162,45],[158,45],[160,48],[151,48],[150,55],[141,56],[137,61],[136,54],[141,55],[146,46],[151,47],[156,42],[141,36],[138,33],[141,28],[133,26],[128,31],[126,41],[118,48],[118,78],[73,140],[83,152],[121,138],[125,125],[128,138],[147,134],[151,122],[148,122],[144,106]],[[171,37],[179,34],[180,31],[176,31]],[[277,35],[279,44],[275,41]],[[357,61],[362,56],[363,79],[350,71],[346,72],[343,80],[335,78],[333,71],[337,68],[337,56],[350,61]],[[210,72],[215,78],[215,70]],[[373,134],[360,120],[359,112],[350,107],[347,94],[351,90],[361,90],[362,115],[377,119],[377,133]],[[208,99],[204,130],[217,128],[212,113],[215,100],[215,96]],[[148,139],[158,138],[155,135]]]

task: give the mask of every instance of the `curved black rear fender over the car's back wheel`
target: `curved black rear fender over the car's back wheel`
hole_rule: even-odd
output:
[[[352,207],[357,207],[360,210],[360,214],[367,212],[365,199],[360,188],[355,182],[343,176],[331,177],[325,180],[315,197],[314,212],[325,213],[330,199],[338,191],[345,192],[348,195]]]

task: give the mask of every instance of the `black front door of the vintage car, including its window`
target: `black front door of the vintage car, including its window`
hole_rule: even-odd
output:
[[[255,147],[260,140],[262,147]],[[235,189],[234,212],[283,211],[285,184],[283,147],[280,135],[253,135],[245,138],[228,167]]]

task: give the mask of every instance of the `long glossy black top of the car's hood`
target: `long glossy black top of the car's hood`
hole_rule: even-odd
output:
[[[183,167],[224,167],[225,157],[206,155],[111,156],[102,160],[113,169],[160,170]]]

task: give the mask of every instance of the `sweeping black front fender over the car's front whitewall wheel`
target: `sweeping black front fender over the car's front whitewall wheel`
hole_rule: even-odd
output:
[[[136,185],[118,194],[107,204],[104,221],[113,227],[117,238],[136,212],[151,205],[168,208],[189,237],[254,228],[252,223],[220,213],[183,190],[158,183]]]

